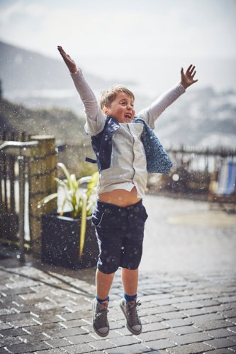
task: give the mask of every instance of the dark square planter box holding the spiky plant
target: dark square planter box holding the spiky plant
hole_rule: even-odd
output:
[[[79,260],[80,219],[58,214],[42,216],[42,260],[72,269],[90,268],[99,258],[99,246],[91,218],[87,218],[82,260]]]

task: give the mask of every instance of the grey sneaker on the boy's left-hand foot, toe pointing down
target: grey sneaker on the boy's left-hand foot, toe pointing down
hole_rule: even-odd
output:
[[[109,333],[109,323],[107,319],[108,302],[100,304],[96,299],[93,302],[93,326],[94,331],[101,337],[106,337]]]

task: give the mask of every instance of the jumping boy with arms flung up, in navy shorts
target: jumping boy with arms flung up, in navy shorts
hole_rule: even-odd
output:
[[[135,97],[126,87],[115,85],[101,94],[100,106],[87,84],[82,70],[58,46],[83,101],[86,113],[86,133],[96,153],[99,167],[98,200],[92,216],[99,243],[99,261],[96,270],[96,297],[93,302],[94,331],[106,337],[109,291],[118,267],[124,297],[120,308],[128,330],[140,334],[142,324],[137,314],[138,266],[142,256],[142,240],[147,219],[142,198],[147,184],[147,153],[142,143],[145,122],[154,129],[154,121],[185,89],[196,82],[195,67],[190,65],[181,82],[165,92],[135,121]],[[144,122],[143,122],[143,121]],[[148,128],[147,128],[148,129]]]

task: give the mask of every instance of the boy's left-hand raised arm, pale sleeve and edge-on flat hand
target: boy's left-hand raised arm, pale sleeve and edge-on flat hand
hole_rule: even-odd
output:
[[[91,135],[96,135],[102,131],[105,124],[104,116],[99,107],[99,103],[96,100],[96,96],[91,90],[91,87],[89,87],[89,84],[86,82],[86,79],[82,74],[82,70],[77,68],[74,60],[60,45],[58,45],[57,49],[59,50],[60,55],[62,55],[62,58],[67,65],[70,74],[72,75],[74,85],[77,88],[77,92],[79,92],[79,96],[84,104],[86,113],[86,132]]]

